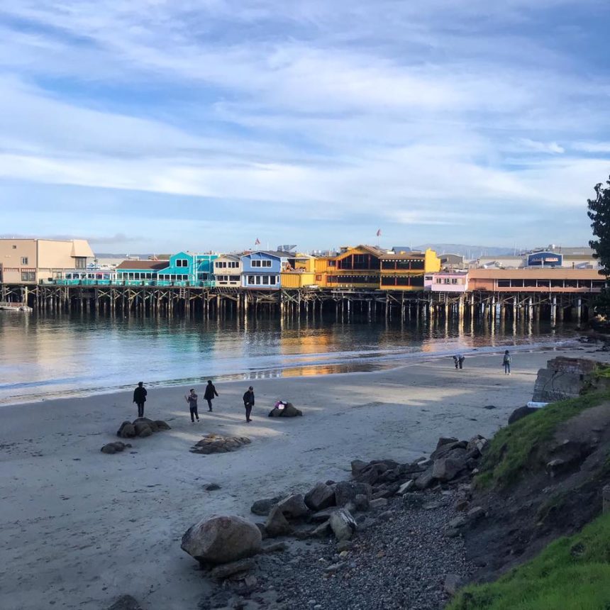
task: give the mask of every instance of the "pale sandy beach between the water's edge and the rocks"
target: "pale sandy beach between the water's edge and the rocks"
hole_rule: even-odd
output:
[[[255,519],[255,499],[346,479],[350,461],[405,462],[439,436],[491,436],[531,399],[538,368],[557,355],[599,357],[594,348],[518,353],[505,376],[501,356],[469,356],[372,373],[253,382],[253,423],[241,402],[249,382],[218,384],[209,414],[192,424],[184,388],[154,389],[145,416],[171,431],[100,453],[136,416],[131,392],[0,409],[0,607],[99,610],[132,594],[147,610],[194,610],[206,581],[180,549],[184,531],[213,514]],[[605,354],[604,354],[605,356]],[[607,358],[604,358],[606,360]],[[203,386],[198,387],[203,394]],[[267,418],[277,399],[302,418]],[[484,409],[493,405],[494,409]],[[248,436],[235,453],[195,455],[206,433]],[[221,489],[204,487],[218,483]]]

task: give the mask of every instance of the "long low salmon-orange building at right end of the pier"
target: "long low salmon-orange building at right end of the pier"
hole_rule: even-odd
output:
[[[468,272],[469,292],[601,292],[605,283],[595,269],[530,267],[471,269]]]

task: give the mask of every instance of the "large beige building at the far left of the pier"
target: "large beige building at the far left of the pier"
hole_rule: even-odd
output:
[[[94,253],[84,239],[0,239],[0,282],[38,284],[86,270]]]

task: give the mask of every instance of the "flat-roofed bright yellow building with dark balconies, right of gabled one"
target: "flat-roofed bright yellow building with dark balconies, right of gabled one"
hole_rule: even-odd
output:
[[[440,271],[440,258],[434,250],[394,252],[380,257],[382,290],[423,290],[423,276]]]

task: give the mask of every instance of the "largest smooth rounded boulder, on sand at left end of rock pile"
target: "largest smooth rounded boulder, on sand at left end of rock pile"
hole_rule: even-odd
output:
[[[254,523],[238,516],[199,521],[182,536],[181,548],[199,562],[228,563],[260,551],[262,537]]]

